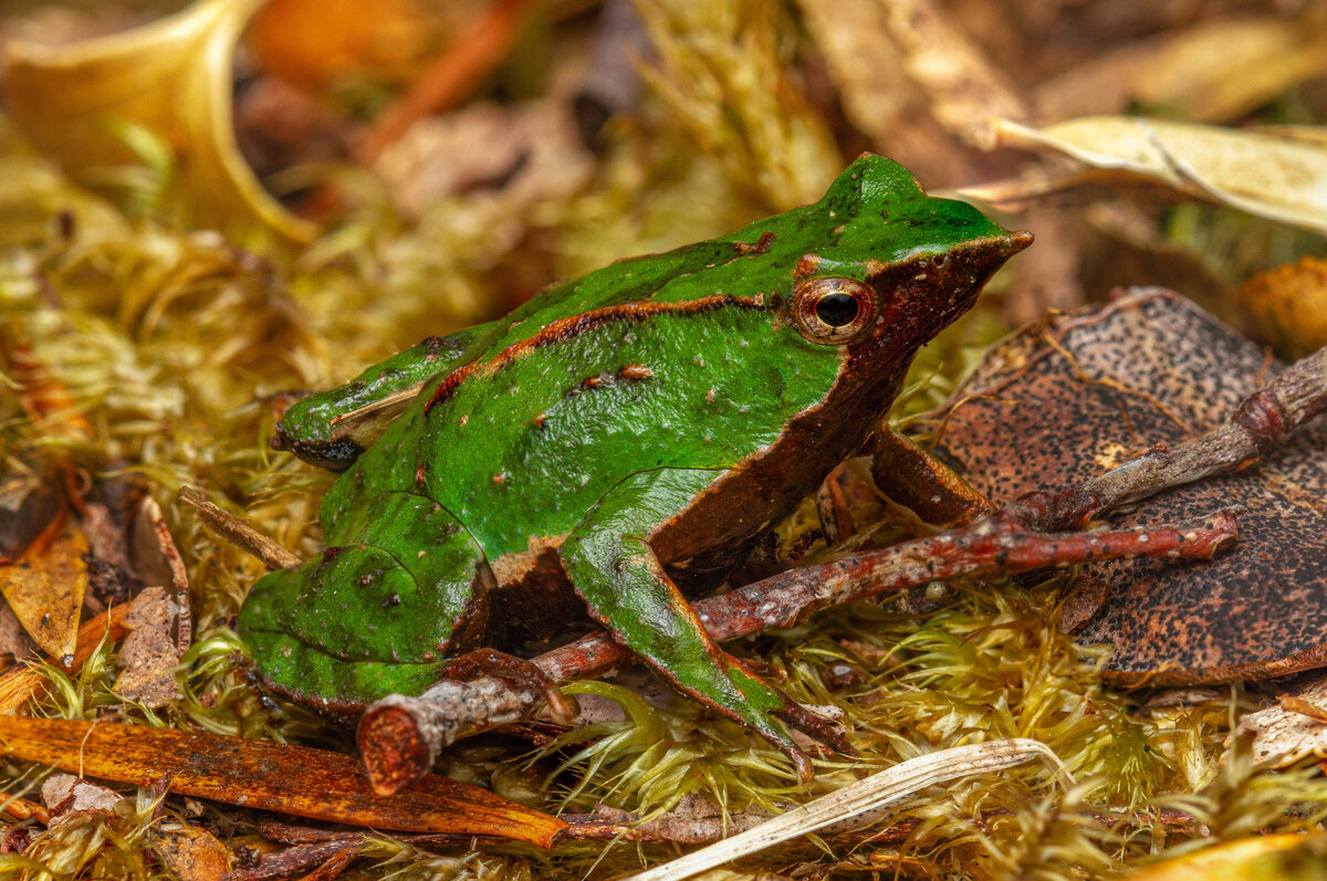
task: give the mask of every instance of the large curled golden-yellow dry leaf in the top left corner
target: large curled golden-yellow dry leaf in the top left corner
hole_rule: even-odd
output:
[[[68,45],[12,41],[5,106],[64,170],[94,183],[107,166],[137,163],[117,133],[138,126],[174,150],[200,227],[263,224],[309,241],[313,224],[280,206],[235,145],[235,44],[263,0],[200,0],[153,24]]]

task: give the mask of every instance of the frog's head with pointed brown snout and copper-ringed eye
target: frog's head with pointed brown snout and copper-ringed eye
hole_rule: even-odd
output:
[[[928,196],[906,169],[871,154],[808,210],[839,226],[798,261],[782,308],[807,341],[847,350],[863,381],[897,374],[1032,241],[967,203]]]

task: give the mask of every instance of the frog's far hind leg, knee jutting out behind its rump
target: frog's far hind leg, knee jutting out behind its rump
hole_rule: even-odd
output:
[[[345,471],[405,410],[423,383],[459,366],[470,344],[490,326],[426,337],[345,385],[301,398],[277,422],[272,448],[288,450],[332,471]]]

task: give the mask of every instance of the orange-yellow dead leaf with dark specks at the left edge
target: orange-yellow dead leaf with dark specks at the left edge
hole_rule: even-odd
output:
[[[33,544],[15,563],[0,564],[0,593],[24,630],[46,654],[68,663],[78,641],[78,614],[88,588],[88,540],[72,521],[50,541]]]

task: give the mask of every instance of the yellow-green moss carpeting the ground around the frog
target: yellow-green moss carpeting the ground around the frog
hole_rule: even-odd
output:
[[[650,15],[660,33],[699,27],[664,9]],[[734,27],[710,21],[701,29],[717,34],[711,50],[722,54],[731,45],[725,28]],[[109,712],[349,748],[346,731],[263,703],[240,681],[239,645],[227,625],[261,565],[204,532],[176,503],[176,490],[202,487],[279,543],[312,555],[329,475],[268,448],[277,394],[336,383],[417,342],[421,329],[446,333],[488,317],[511,293],[499,291],[510,267],[524,260],[547,268],[543,281],[572,277],[813,198],[840,162],[823,123],[796,101],[702,113],[707,105],[697,96],[713,85],[705,77],[739,62],[706,68],[694,46],[682,46],[665,42],[669,73],[657,77],[664,100],[653,122],[620,134],[591,184],[539,206],[525,235],[503,251],[484,251],[484,224],[495,220],[467,214],[463,199],[407,220],[362,175],[346,187],[346,220],[299,253],[182,231],[167,220],[171,195],[161,175],[169,170],[123,179],[121,198],[106,200],[60,176],[0,122],[0,330],[9,345],[38,356],[93,429],[92,437],[69,433],[62,411],[31,418],[7,378],[0,393],[7,466],[37,468],[65,458],[94,479],[143,475],[187,564],[198,633],[179,670],[186,697],[178,703],[145,711],[111,695],[115,646],[106,645],[78,677],[50,671],[57,687],[40,712]],[[764,60],[764,76],[775,76],[776,45],[743,52],[740,64]],[[922,357],[916,390],[896,415],[943,397],[998,333],[993,316],[978,309]],[[876,539],[892,528],[884,524]],[[1312,764],[1259,771],[1243,744],[1223,746],[1242,706],[1238,687],[1196,703],[1151,706],[1147,694],[1104,687],[1107,650],[1075,645],[1056,622],[1055,585],[962,584],[924,617],[857,604],[751,641],[744,650],[786,670],[796,699],[843,710],[867,767],[1024,736],[1050,746],[1076,783],[1066,788],[1030,768],[932,788],[892,815],[892,823],[910,824],[901,844],[831,839],[764,854],[750,870],[841,858],[848,877],[1097,877],[1200,841],[1319,827],[1327,780]],[[837,665],[865,678],[832,687],[827,671]],[[729,811],[775,808],[860,774],[856,763],[828,759],[813,787],[803,789],[782,756],[690,703],[658,709],[620,686],[596,687],[621,697],[630,719],[575,732],[537,754],[511,740],[479,740],[455,751],[451,772],[548,811],[588,812],[606,803],[646,816],[673,809],[689,793]],[[42,776],[19,763],[7,774],[11,793],[31,793]],[[53,877],[161,876],[145,856],[147,829],[162,811],[192,817],[194,807],[167,797],[158,808],[150,792],[135,799],[122,816],[38,835],[23,858],[0,856],[0,870],[27,866],[29,877],[40,877],[23,862],[37,860]],[[223,840],[252,839],[248,812],[200,809],[200,821]],[[1177,821],[1172,809],[1189,819]],[[368,852],[370,861],[344,877],[608,877],[671,852],[620,843],[553,853],[492,845],[438,856],[384,837]]]

